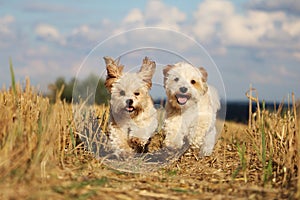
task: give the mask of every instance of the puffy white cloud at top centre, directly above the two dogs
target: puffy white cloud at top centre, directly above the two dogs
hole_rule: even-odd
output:
[[[186,14],[177,7],[164,4],[163,1],[148,1],[143,10],[138,8],[131,9],[122,20],[120,26],[114,26],[111,32],[113,34],[121,34],[135,28],[157,27],[157,32],[151,30],[147,33],[141,30],[134,34],[127,34],[126,37],[120,35],[118,40],[114,42],[116,46],[128,45],[128,48],[137,48],[136,46],[139,44],[159,46],[161,48],[176,46],[177,48],[173,49],[176,51],[186,49],[190,44],[177,41],[175,34],[170,34],[167,30],[181,31],[180,29],[184,22],[186,22]],[[159,28],[167,30],[163,31]]]

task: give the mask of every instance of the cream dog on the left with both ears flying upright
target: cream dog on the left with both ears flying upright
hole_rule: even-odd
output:
[[[156,64],[147,57],[137,73],[123,73],[112,58],[104,57],[105,86],[111,94],[109,139],[115,153],[143,151],[157,128],[157,112],[149,95]]]

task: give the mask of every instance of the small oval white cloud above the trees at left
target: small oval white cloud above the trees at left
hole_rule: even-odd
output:
[[[60,34],[57,28],[49,24],[40,24],[35,28],[35,34],[38,38],[45,41],[58,42],[61,45],[65,45],[65,39]]]

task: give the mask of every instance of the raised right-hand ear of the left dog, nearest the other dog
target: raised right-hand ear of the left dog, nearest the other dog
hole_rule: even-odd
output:
[[[148,57],[143,59],[143,64],[141,66],[138,74],[142,77],[143,81],[146,82],[147,87],[150,89],[152,87],[152,77],[155,72],[156,64],[154,61],[149,60]]]

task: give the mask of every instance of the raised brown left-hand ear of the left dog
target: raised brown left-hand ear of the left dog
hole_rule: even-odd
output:
[[[105,87],[111,92],[112,84],[122,76],[124,66],[118,65],[111,57],[105,56],[107,76],[105,80]]]

